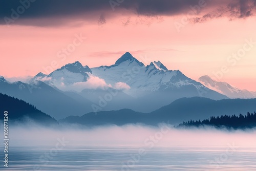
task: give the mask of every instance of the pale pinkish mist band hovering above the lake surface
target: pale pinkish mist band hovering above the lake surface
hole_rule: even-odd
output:
[[[9,128],[10,144],[51,145],[57,138],[65,138],[68,145],[105,146],[223,146],[227,143],[256,146],[256,130],[217,130],[213,127],[175,129],[168,123],[159,127],[129,124],[93,128],[69,125],[62,128],[41,127],[36,124]]]

